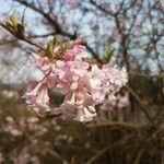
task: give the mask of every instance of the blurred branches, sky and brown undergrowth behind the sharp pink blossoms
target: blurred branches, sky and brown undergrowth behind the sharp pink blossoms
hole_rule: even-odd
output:
[[[89,124],[39,118],[22,95],[42,73],[38,50],[0,27],[0,163],[164,164],[163,0],[0,0],[0,21],[13,12],[44,47],[52,36],[83,37],[91,57],[125,67],[128,84],[116,102],[97,106]],[[49,92],[54,102],[61,97]]]

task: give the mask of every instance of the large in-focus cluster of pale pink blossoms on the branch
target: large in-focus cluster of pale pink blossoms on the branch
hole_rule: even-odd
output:
[[[109,65],[97,66],[87,60],[82,39],[70,44],[67,50],[49,60],[32,54],[33,61],[44,72],[36,87],[23,97],[36,112],[62,114],[78,121],[91,121],[96,116],[95,106],[105,95],[114,96],[127,83],[127,72]],[[65,95],[60,107],[50,109],[48,89],[57,87]]]

